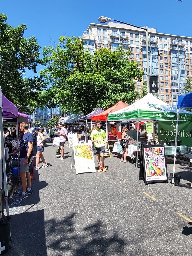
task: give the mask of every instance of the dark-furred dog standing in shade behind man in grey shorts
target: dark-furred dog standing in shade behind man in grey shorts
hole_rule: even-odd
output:
[[[7,191],[8,191],[8,197],[12,198],[13,193],[19,194],[19,186],[20,186],[20,177],[18,175],[12,175],[7,177]],[[2,182],[2,185],[4,186],[4,180]],[[4,191],[4,187],[3,187]]]

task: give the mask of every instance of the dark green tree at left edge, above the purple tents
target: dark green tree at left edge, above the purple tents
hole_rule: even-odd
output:
[[[23,38],[25,24],[11,27],[7,16],[0,13],[0,86],[5,97],[12,101],[20,112],[31,114],[40,106],[40,96],[46,88],[42,77],[24,78],[26,69],[37,73],[42,64],[39,45],[33,36]]]

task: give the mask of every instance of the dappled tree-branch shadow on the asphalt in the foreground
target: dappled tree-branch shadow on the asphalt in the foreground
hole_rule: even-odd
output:
[[[126,255],[126,243],[116,231],[107,230],[101,220],[77,231],[76,216],[74,212],[61,221],[51,219],[45,222],[47,248],[52,251],[52,255],[54,251],[58,256],[67,253],[71,256]]]

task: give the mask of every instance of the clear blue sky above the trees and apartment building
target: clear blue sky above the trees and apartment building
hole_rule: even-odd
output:
[[[7,23],[12,27],[26,24],[24,37],[34,36],[41,46],[40,52],[44,46],[58,44],[60,36],[82,36],[90,23],[99,23],[99,16],[192,37],[191,9],[192,0],[6,0],[0,3],[0,12],[8,16]],[[26,77],[33,76],[32,72],[26,72]]]

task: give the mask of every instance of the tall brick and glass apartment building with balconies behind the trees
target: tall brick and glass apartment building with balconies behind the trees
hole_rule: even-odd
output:
[[[91,23],[82,35],[84,49],[94,52],[100,47],[115,51],[119,44],[131,50],[131,61],[141,62],[143,81],[147,81],[146,30],[131,25],[108,22]],[[149,76],[158,77],[158,98],[177,106],[179,95],[192,76],[192,37],[158,33],[148,28]],[[143,81],[135,81],[140,91]]]

